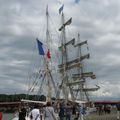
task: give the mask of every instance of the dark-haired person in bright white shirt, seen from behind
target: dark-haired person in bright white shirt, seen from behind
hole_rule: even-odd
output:
[[[38,105],[35,104],[33,110],[30,112],[31,120],[40,120],[40,111]]]

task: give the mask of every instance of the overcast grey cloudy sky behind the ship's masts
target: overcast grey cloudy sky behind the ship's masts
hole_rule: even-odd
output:
[[[58,30],[58,9],[64,4],[66,19],[73,18],[70,35],[80,32],[80,39],[88,40],[89,63],[101,86],[94,95],[119,98],[119,0],[0,0],[0,94],[27,90],[28,73],[35,67],[32,61],[38,59],[35,39],[43,35],[47,4],[52,30]]]

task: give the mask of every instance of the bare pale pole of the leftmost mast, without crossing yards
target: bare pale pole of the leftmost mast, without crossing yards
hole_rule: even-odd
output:
[[[47,48],[47,57],[44,56],[44,64],[45,64],[45,73],[41,82],[41,86],[39,88],[39,92],[41,91],[42,85],[44,80],[46,80],[46,85],[47,85],[47,96],[46,96],[46,101],[51,101],[52,98],[52,88],[55,91],[55,96],[56,96],[56,85],[52,77],[52,70],[51,68],[51,53],[50,53],[50,31],[49,31],[49,12],[48,12],[48,6],[46,7],[46,48]],[[49,53],[48,53],[49,52]],[[48,58],[49,57],[49,58]]]

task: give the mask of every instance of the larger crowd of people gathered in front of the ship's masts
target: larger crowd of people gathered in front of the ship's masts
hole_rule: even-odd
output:
[[[19,120],[26,120],[26,115],[31,120],[83,120],[85,115],[84,105],[70,102],[47,102],[46,105],[35,104],[31,110],[21,107]]]

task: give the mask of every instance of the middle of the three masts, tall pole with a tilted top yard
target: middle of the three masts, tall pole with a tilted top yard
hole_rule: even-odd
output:
[[[71,95],[72,100],[74,101],[74,95],[73,95],[73,90],[71,88],[71,86],[68,86],[67,84],[69,83],[69,79],[68,79],[68,73],[67,73],[67,62],[68,62],[68,56],[67,56],[67,45],[69,45],[69,43],[66,42],[66,33],[65,33],[65,27],[67,25],[69,25],[72,22],[72,18],[70,18],[67,22],[65,22],[64,20],[64,13],[62,12],[62,26],[59,28],[59,31],[61,31],[62,34],[62,42],[61,42],[61,46],[59,47],[61,49],[61,53],[62,53],[62,66],[60,67],[60,71],[62,71],[62,83],[61,83],[61,88],[62,88],[62,92],[64,94],[65,100],[66,102],[69,99],[69,95]],[[74,41],[74,39],[72,39],[71,41]]]

